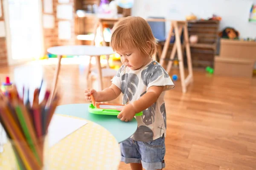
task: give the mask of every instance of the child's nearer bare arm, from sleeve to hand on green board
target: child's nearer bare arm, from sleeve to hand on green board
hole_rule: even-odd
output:
[[[117,109],[121,111],[117,117],[125,122],[133,119],[136,113],[139,113],[153,105],[162,91],[163,86],[151,86],[148,88],[147,93],[140,97],[140,99],[125,105],[121,109]]]

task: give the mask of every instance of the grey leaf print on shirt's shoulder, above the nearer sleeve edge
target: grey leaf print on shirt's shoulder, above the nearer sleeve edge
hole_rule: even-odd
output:
[[[144,85],[148,86],[149,82],[155,81],[158,77],[160,77],[163,74],[163,69],[161,65],[154,65],[154,61],[151,62],[151,64],[148,65],[148,67],[145,68],[141,72],[141,79],[144,83]]]

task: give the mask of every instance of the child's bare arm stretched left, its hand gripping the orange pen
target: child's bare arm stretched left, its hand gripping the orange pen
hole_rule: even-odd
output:
[[[90,95],[93,95],[95,102],[108,102],[116,99],[120,94],[121,90],[114,84],[111,84],[109,88],[105,88],[103,91],[95,91],[90,89],[90,91],[85,91],[85,99],[91,102]]]

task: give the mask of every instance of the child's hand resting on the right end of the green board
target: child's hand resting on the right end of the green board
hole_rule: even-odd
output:
[[[116,108],[116,110],[121,111],[117,118],[125,122],[132,120],[136,114],[134,106],[131,104],[125,105],[122,108]]]

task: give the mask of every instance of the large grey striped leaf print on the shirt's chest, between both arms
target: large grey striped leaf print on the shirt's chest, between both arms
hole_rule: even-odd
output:
[[[123,95],[123,104],[127,104],[132,100],[137,91],[139,78],[136,74],[126,73],[121,77],[121,91]]]

